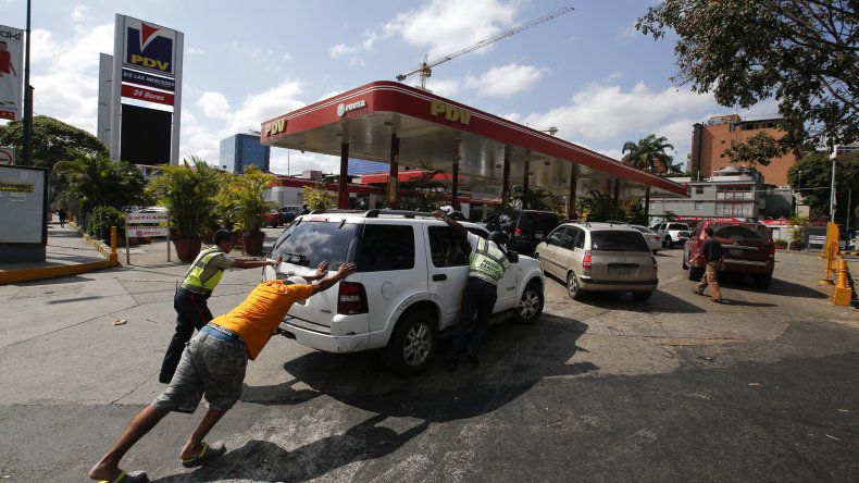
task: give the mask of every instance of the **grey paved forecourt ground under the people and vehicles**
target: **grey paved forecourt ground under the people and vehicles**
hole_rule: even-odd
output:
[[[825,299],[819,259],[780,251],[769,289],[727,281],[717,305],[690,293],[681,256],[660,252],[646,302],[576,302],[547,278],[544,315],[495,325],[482,364],[453,374],[439,358],[402,379],[375,352],[275,338],[211,435],[226,456],[183,469],[177,451],[197,418],[171,414],[124,467],[154,481],[859,479],[859,317]],[[163,388],[184,271],[0,287],[0,478],[86,479]],[[228,272],[212,311],[259,277]]]

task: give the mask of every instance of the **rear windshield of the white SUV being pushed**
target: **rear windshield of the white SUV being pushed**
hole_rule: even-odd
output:
[[[283,256],[287,263],[315,268],[323,260],[336,270],[349,255],[354,223],[303,222],[292,224],[281,234],[271,258]]]

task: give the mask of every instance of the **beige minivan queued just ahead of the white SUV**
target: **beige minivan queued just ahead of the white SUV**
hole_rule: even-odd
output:
[[[630,292],[647,300],[659,285],[644,235],[622,224],[565,223],[537,246],[536,256],[547,273],[567,282],[574,300],[590,292]]]

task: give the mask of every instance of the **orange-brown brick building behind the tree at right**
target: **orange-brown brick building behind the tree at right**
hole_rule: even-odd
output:
[[[724,153],[733,143],[746,141],[761,131],[774,138],[784,136],[776,127],[777,119],[743,121],[737,114],[710,117],[707,123],[693,126],[692,163],[689,165],[693,179],[710,177],[713,172],[732,165],[731,159]],[[797,154],[790,151],[771,160],[769,166],[758,165],[767,182],[775,186],[787,185],[787,170],[797,161]]]

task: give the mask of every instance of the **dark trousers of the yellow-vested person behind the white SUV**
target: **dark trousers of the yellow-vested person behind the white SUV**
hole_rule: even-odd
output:
[[[166,384],[173,379],[182,359],[182,351],[191,339],[194,330],[199,331],[214,319],[206,302],[208,298],[208,295],[195,294],[183,288],[176,290],[173,297],[173,308],[176,309],[176,332],[170,339],[167,352],[161,363],[161,374],[158,376],[160,382]]]

